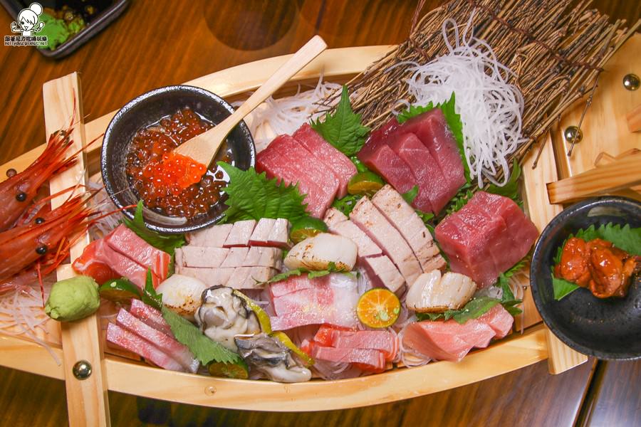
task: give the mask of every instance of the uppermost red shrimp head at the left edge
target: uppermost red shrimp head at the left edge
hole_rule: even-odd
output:
[[[38,189],[51,176],[75,163],[75,154],[68,158],[65,156],[72,142],[70,138],[72,130],[73,122],[68,129],[53,132],[46,149],[35,162],[23,172],[0,183],[0,231],[14,225],[31,204]]]

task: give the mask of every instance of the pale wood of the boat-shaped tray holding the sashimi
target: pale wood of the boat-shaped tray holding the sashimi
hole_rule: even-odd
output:
[[[639,41],[638,37],[629,43],[635,41]],[[321,74],[325,80],[343,83],[384,56],[390,48],[391,46],[367,46],[329,49],[298,73],[283,88],[283,93],[292,93],[300,83],[315,83]],[[622,52],[619,53],[621,54]],[[278,56],[238,65],[187,84],[210,90],[226,100],[239,99],[261,85],[288,57]],[[50,132],[68,122],[73,112],[73,97],[81,99],[77,75],[74,73],[46,83],[43,93],[47,132]],[[59,104],[50,105],[52,99],[58,99]],[[79,113],[82,117],[81,110]],[[76,127],[73,137],[79,142],[100,137],[114,114],[112,112]],[[562,206],[551,205],[548,201],[546,183],[556,181],[558,176],[552,144],[546,142],[538,167],[531,168],[536,147],[531,150],[531,156],[523,166],[523,199],[528,215],[539,231],[562,209]],[[43,147],[33,149],[1,166],[0,176],[5,176],[6,169],[11,167],[19,171],[24,169],[36,159]],[[100,144],[93,144],[86,150],[84,165],[78,166],[80,174],[83,171],[85,175],[99,172],[99,148]],[[617,154],[618,150],[614,151],[613,154]],[[78,176],[78,170],[75,173]],[[75,182],[77,177],[67,176],[63,178],[63,182],[54,183],[52,180],[51,186],[64,188]],[[86,243],[88,237],[78,248],[73,248],[72,257],[74,251],[77,256],[77,251],[81,251]],[[58,269],[59,277],[70,274],[69,265]],[[462,362],[432,362],[423,367],[397,368],[382,374],[340,381],[313,380],[300,384],[278,384],[271,381],[219,379],[157,369],[104,354],[100,349],[102,344],[98,338],[98,320],[95,315],[68,324],[49,322],[48,329],[53,331],[53,335],[61,330],[64,352],[60,345],[52,347],[63,364],[58,365],[46,349],[34,342],[0,335],[0,365],[66,380],[70,421],[106,425],[109,423],[106,390],[219,408],[316,411],[321,408],[330,410],[382,404],[452,389],[505,374],[548,357],[551,358],[550,367],[554,373],[585,362],[583,355],[565,347],[548,333],[541,324],[529,290],[526,290],[523,300],[525,313],[517,320],[517,330],[523,328],[523,333],[511,334],[487,349],[477,349]],[[72,374],[73,364],[80,359],[87,360],[93,366],[92,375],[83,381]]]

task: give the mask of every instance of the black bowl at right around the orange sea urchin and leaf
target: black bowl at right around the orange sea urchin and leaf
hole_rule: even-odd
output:
[[[580,228],[606,224],[641,227],[641,204],[605,196],[570,206],[548,224],[534,247],[530,268],[532,295],[550,330],[568,346],[600,359],[641,357],[641,278],[632,278],[625,298],[600,299],[578,288],[554,299],[550,268],[557,248]]]

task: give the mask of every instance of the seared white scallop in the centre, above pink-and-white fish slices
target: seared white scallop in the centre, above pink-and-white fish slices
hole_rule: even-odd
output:
[[[296,244],[285,258],[290,268],[327,270],[333,263],[336,270],[351,271],[356,263],[358,248],[349,238],[319,233]]]

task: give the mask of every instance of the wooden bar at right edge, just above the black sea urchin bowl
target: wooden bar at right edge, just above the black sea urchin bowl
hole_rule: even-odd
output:
[[[577,201],[641,184],[641,154],[547,184],[551,203]]]

